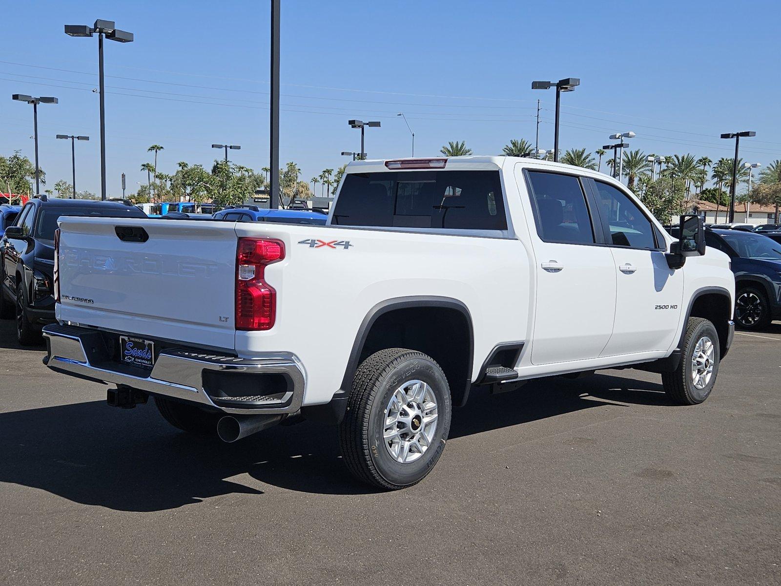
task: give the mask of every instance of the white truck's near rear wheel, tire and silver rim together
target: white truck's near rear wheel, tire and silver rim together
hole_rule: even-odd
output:
[[[442,455],[451,420],[448,379],[423,352],[380,350],[355,371],[339,427],[344,463],[363,482],[417,484]]]

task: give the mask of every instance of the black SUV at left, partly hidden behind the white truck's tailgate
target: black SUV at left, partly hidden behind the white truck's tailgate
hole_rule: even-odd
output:
[[[0,317],[16,316],[22,345],[41,343],[41,327],[55,321],[54,232],[60,216],[145,218],[130,202],[34,198],[0,240]]]

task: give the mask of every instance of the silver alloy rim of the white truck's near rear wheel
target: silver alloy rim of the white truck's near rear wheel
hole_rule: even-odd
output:
[[[423,381],[407,381],[394,391],[383,424],[385,447],[399,463],[426,453],[437,431],[437,397]]]

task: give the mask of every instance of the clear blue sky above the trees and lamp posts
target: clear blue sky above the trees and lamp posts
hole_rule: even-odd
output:
[[[777,2],[305,2],[282,0],[280,161],[303,179],[358,151],[347,120],[366,130],[369,158],[437,155],[450,140],[497,154],[511,138],[553,146],[554,91],[531,81],[580,77],[562,96],[562,149],[608,144],[633,130],[633,148],[662,155],[731,156],[719,134],[755,130],[741,156],[781,159],[781,41]],[[13,93],[54,95],[39,107],[41,168],[48,185],[100,186],[97,40],[63,25],[115,20],[135,41],[106,42],[109,194],[145,181],[146,148],[163,145],[159,169],[210,166],[212,143],[241,145],[231,158],[268,165],[267,2],[15,2],[6,5],[0,56],[0,153],[32,159],[32,112]],[[603,167],[604,169],[604,167]]]

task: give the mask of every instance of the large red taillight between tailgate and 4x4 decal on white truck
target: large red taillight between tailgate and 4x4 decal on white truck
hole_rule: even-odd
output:
[[[285,258],[280,240],[239,238],[236,252],[236,329],[269,330],[276,317],[276,291],[264,280],[266,266]]]

